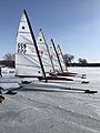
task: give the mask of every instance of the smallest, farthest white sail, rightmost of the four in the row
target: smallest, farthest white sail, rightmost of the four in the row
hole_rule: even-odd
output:
[[[66,63],[64,63],[64,60],[63,60],[62,51],[61,51],[61,48],[60,48],[59,44],[58,44],[58,47],[57,47],[57,52],[58,52],[58,55],[59,55],[60,63],[61,63],[61,65],[62,65],[62,70],[63,70],[63,71],[68,71],[68,70],[67,70],[67,66],[66,66]]]

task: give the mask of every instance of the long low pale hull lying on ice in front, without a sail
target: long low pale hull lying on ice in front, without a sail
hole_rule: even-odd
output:
[[[70,93],[97,93],[97,91],[70,88],[67,85],[56,84],[56,83],[44,83],[44,82],[28,82],[23,81],[18,83],[18,86],[2,88],[4,94],[17,94],[17,91],[47,91],[47,92],[70,92]],[[14,92],[16,91],[16,92]]]

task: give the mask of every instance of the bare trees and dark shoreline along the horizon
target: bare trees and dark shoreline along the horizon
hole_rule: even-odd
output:
[[[79,58],[78,63],[72,62],[74,55],[63,54],[63,60],[67,66],[100,66],[100,63],[88,63],[87,59]],[[3,60],[0,61],[0,65],[16,68],[14,65],[16,55],[14,53],[7,53]]]

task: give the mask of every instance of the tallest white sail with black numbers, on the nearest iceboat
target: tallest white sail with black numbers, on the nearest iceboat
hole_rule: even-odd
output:
[[[24,12],[22,13],[17,35],[16,75],[42,75],[34,42]]]

